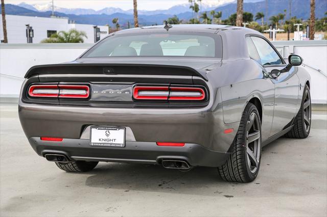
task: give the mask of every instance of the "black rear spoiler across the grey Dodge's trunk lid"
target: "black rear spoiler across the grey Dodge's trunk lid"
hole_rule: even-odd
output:
[[[208,80],[206,71],[182,65],[156,64],[108,64],[108,63],[63,63],[37,65],[30,68],[25,78],[46,74],[145,74],[145,75],[194,75]]]

